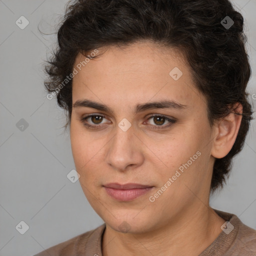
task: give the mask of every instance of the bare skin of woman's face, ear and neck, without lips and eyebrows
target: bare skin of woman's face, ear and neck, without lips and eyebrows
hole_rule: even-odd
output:
[[[206,100],[193,85],[178,50],[143,41],[99,52],[102,55],[73,77],[72,102],[86,98],[107,105],[112,112],[73,107],[70,139],[83,192],[106,223],[102,253],[198,255],[225,222],[209,206],[210,180],[214,157],[221,158],[231,149],[241,116],[230,113],[210,127]],[[74,66],[84,58],[78,54]],[[169,75],[174,67],[183,73],[178,80]],[[164,99],[186,107],[134,113],[137,104]],[[235,111],[241,113],[241,105],[236,106]],[[81,120],[86,114],[105,117],[101,122],[93,117]],[[167,127],[166,119],[157,122],[150,114],[176,122]],[[118,126],[123,118],[131,124],[126,131]],[[84,123],[101,128],[88,128]],[[163,128],[153,129],[159,126]],[[200,156],[158,198],[149,201],[197,151]],[[118,201],[102,186],[109,182],[153,188],[131,201]]]

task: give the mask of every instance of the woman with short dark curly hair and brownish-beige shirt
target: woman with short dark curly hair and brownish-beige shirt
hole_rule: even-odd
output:
[[[76,0],[46,66],[79,182],[104,224],[42,255],[256,255],[212,209],[251,119],[243,18],[228,0]]]

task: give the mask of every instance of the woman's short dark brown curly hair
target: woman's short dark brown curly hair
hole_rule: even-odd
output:
[[[227,18],[233,22],[230,27],[224,26]],[[59,106],[66,110],[66,127],[71,119],[72,79],[57,88],[72,72],[77,54],[148,39],[183,53],[197,89],[207,100],[210,125],[226,116],[234,103],[243,107],[231,150],[215,159],[210,187],[214,191],[225,182],[252,119],[245,92],[251,69],[243,17],[228,0],[69,1],[57,32],[57,48],[45,64],[45,88],[57,95]]]

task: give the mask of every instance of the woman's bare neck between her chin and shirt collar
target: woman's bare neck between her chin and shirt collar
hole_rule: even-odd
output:
[[[224,222],[209,205],[198,202],[164,226],[143,233],[121,233],[106,224],[102,255],[198,255],[220,234]]]

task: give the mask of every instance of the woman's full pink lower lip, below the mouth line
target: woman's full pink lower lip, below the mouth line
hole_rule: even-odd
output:
[[[133,189],[115,189],[104,187],[107,194],[119,201],[130,201],[140,195],[147,193],[152,187],[133,188]]]

